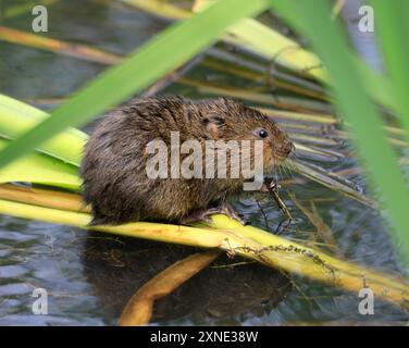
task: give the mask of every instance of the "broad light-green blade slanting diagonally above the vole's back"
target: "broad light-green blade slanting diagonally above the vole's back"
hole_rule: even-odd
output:
[[[189,20],[172,25],[120,65],[97,77],[54,110],[50,117],[1,151],[0,166],[34,149],[67,126],[82,125],[132,94],[140,91],[212,44],[226,27],[245,16],[261,12],[265,7],[264,0],[224,0]],[[212,25],[209,26],[209,23]]]

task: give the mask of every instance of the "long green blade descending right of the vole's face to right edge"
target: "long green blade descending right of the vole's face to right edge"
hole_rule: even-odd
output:
[[[311,40],[325,63],[337,107],[351,125],[361,162],[368,167],[372,188],[376,188],[386,209],[400,254],[409,264],[409,214],[404,209],[409,202],[408,188],[397,156],[386,140],[382,117],[364,92],[367,86],[346,53],[347,40],[337,23],[330,20],[327,2],[272,0],[271,5]]]

